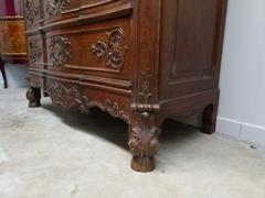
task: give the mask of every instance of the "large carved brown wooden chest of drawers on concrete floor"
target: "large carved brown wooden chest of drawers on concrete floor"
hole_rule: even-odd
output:
[[[213,133],[226,0],[24,0],[29,107],[98,107],[128,125],[131,168],[155,168],[160,125]]]

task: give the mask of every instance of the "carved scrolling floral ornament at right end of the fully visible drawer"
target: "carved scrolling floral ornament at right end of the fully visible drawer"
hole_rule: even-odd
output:
[[[124,30],[115,29],[106,33],[106,38],[97,41],[91,45],[91,51],[98,58],[104,59],[106,65],[115,70],[121,70],[127,53]]]

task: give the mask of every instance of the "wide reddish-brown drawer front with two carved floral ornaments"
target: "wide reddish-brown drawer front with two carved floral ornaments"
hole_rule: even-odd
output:
[[[131,78],[129,19],[47,33],[50,70]]]

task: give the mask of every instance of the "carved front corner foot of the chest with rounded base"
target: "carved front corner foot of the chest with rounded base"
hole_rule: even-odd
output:
[[[139,119],[139,122],[129,127],[128,145],[132,154],[131,168],[136,172],[155,169],[153,156],[159,150],[160,129],[150,123],[152,119],[148,118],[148,114],[145,116]]]

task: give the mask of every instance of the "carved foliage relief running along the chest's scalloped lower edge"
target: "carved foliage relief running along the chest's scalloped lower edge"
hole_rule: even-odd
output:
[[[118,102],[106,99],[105,103],[92,101],[81,94],[76,85],[66,85],[60,81],[49,81],[47,92],[54,103],[61,110],[68,111],[78,109],[82,113],[87,114],[89,108],[98,107],[115,118],[120,118],[129,123],[129,117],[120,109]]]

